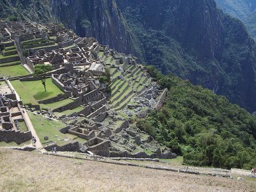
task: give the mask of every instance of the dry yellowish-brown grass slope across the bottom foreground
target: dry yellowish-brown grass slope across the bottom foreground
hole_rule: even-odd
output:
[[[255,191],[252,181],[0,148],[0,191]]]

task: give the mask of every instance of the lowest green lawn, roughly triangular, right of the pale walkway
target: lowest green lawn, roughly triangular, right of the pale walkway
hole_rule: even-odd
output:
[[[81,138],[77,138],[72,134],[63,134],[59,131],[60,128],[65,127],[66,125],[57,120],[46,120],[40,115],[35,115],[33,113],[28,113],[29,118],[35,128],[36,134],[39,137],[41,143],[45,143],[47,141],[55,141],[58,145],[63,145],[66,143],[70,143],[70,141],[79,141],[81,143],[85,142]],[[49,140],[45,141],[44,137],[47,136]],[[57,136],[57,137],[55,137]],[[68,141],[64,141],[63,139],[68,138]],[[62,141],[59,141],[59,140]]]

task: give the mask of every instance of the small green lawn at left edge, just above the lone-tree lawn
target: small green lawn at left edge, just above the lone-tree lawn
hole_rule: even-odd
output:
[[[29,72],[22,65],[13,65],[8,67],[0,67],[0,76],[26,76]]]

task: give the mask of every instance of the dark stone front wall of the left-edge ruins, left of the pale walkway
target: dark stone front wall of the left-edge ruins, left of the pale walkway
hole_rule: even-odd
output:
[[[0,131],[0,141],[4,141],[6,143],[15,142],[18,145],[20,143],[24,143],[32,138],[32,134],[30,131],[20,132],[15,130],[1,130]]]

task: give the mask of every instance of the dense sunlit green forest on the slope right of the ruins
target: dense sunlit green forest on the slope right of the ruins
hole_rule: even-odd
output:
[[[169,91],[163,108],[138,120],[140,129],[184,156],[185,164],[228,169],[256,166],[254,116],[211,90],[163,76],[153,67],[148,72]]]

